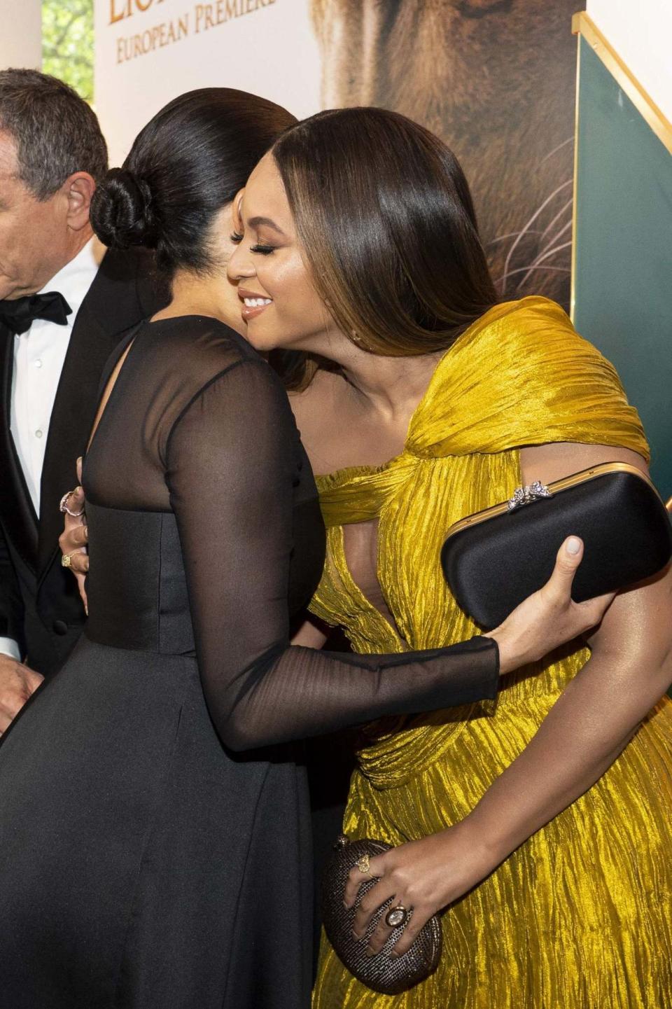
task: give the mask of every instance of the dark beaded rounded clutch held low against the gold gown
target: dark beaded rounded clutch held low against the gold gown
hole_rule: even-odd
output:
[[[334,845],[331,857],[322,879],[322,921],[327,937],[337,956],[357,981],[382,995],[400,995],[430,976],[438,967],[441,957],[441,922],[438,915],[430,918],[419,932],[413,945],[403,957],[390,957],[395,942],[399,939],[406,922],[393,930],[387,942],[375,957],[366,956],[368,938],[374,931],[380,917],[389,909],[391,901],[382,904],[371,919],[365,934],[355,939],[352,922],[359,901],[375,886],[376,879],[362,875],[362,885],[354,907],[343,906],[343,896],[348,873],[363,856],[373,858],[388,852],[391,845],[364,837],[350,840],[341,834]],[[411,920],[411,916],[407,921]]]

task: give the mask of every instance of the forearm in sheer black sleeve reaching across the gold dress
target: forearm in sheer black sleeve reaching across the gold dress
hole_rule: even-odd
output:
[[[205,668],[205,664],[202,664]],[[203,673],[213,721],[232,750],[338,732],[384,715],[496,696],[497,646],[476,637],[445,649],[360,655],[287,647],[226,688]]]

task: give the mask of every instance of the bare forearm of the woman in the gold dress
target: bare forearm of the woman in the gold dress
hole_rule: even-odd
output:
[[[601,777],[670,681],[669,648],[593,655],[465,820],[492,867]]]

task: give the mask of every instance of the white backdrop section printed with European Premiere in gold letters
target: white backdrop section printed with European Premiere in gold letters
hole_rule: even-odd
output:
[[[303,118],[320,109],[308,0],[95,0],[96,112],[121,164],[166,102],[194,88],[240,88]]]

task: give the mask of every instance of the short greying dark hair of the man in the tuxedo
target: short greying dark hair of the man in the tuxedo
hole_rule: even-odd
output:
[[[96,182],[107,172],[107,144],[95,112],[48,74],[0,71],[0,129],[16,143],[18,178],[38,200],[47,200],[76,172]]]

